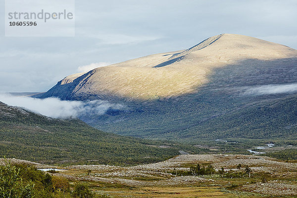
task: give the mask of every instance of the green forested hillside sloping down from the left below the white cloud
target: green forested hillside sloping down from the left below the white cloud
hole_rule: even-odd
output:
[[[139,164],[179,148],[104,133],[78,119],[53,119],[0,102],[0,156],[41,163]],[[162,146],[162,147],[158,147]]]

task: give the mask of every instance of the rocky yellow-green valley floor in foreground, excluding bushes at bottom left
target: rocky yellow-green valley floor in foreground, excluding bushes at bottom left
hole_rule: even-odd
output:
[[[14,163],[28,163],[13,160]],[[37,168],[49,168],[47,165],[31,163]],[[224,167],[224,172],[183,175],[197,164],[200,167],[212,165],[217,171]],[[242,167],[239,168],[238,164]],[[246,166],[250,168],[250,177],[245,172]],[[166,161],[130,167],[73,165],[62,168],[67,170],[51,174],[65,177],[72,183],[85,182],[96,194],[110,198],[297,197],[297,163],[266,156],[178,155]],[[236,173],[240,172],[244,175],[235,178]],[[234,175],[228,176],[228,173]]]

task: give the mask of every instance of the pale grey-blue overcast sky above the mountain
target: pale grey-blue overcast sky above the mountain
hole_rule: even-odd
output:
[[[76,0],[75,37],[5,37],[0,26],[0,92],[44,92],[96,65],[187,49],[222,33],[297,49],[296,10],[297,0]]]

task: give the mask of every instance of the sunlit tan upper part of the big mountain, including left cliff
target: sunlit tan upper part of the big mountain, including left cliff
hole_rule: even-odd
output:
[[[247,36],[222,34],[181,51],[159,53],[67,76],[43,97],[155,99],[193,93],[213,69],[243,60],[297,56],[297,50]]]

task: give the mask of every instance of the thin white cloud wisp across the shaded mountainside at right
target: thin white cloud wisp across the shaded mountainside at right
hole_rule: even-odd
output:
[[[286,94],[297,92],[297,84],[287,85],[263,85],[248,88],[244,91],[245,95],[270,95],[270,94]]]

